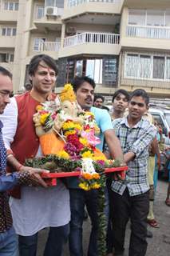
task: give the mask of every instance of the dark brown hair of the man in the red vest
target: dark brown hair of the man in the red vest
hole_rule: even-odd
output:
[[[38,65],[40,62],[45,62],[51,69],[55,71],[56,75],[58,74],[55,60],[46,54],[38,54],[31,58],[28,74],[34,75],[35,71],[38,70]]]

